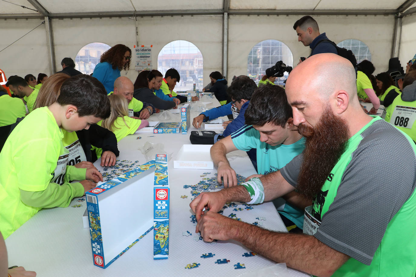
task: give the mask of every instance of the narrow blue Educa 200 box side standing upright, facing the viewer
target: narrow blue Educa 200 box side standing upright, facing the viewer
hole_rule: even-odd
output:
[[[169,178],[166,154],[156,154],[154,174],[153,259],[169,257]]]

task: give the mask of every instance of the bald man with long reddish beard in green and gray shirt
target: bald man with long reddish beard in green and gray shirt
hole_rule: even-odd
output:
[[[233,239],[276,262],[317,276],[414,276],[416,146],[362,110],[352,64],[317,54],[286,82],[305,151],[278,172],[201,193],[190,206],[205,241]],[[304,234],[277,233],[217,212],[228,201],[262,203],[297,190]],[[209,211],[203,212],[203,208]]]

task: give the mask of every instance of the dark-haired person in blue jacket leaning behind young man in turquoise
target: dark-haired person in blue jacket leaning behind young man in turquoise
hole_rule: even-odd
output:
[[[256,88],[256,83],[250,77],[245,75],[238,76],[228,87],[228,94],[233,102],[201,113],[193,119],[193,127],[199,128],[203,122],[225,115],[233,115],[234,120],[224,127],[225,130],[223,132],[224,137],[231,135],[245,124],[244,112]]]

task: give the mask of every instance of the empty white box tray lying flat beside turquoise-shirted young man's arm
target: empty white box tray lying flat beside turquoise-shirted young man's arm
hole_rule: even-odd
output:
[[[173,168],[214,169],[210,149],[212,145],[184,144],[173,161]]]

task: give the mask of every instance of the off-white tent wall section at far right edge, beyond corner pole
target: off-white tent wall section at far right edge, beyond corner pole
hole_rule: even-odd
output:
[[[414,30],[416,29],[416,14],[409,15],[402,18],[401,39],[399,47],[399,59],[403,69],[406,68],[406,63],[413,59],[416,54],[416,37]]]

